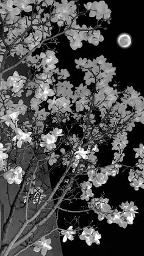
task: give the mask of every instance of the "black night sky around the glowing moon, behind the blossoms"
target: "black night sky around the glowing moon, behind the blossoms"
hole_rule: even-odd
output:
[[[88,1],[80,1],[86,3]],[[82,80],[81,70],[77,70],[75,67],[74,59],[79,59],[79,57],[86,57],[87,59],[96,59],[96,57],[103,55],[107,58],[107,62],[112,62],[113,67],[116,67],[116,76],[114,76],[113,81],[120,82],[121,88],[126,88],[127,86],[134,87],[137,92],[140,92],[144,96],[143,90],[143,59],[142,59],[142,38],[140,38],[142,29],[142,14],[139,1],[137,4],[135,1],[122,0],[122,1],[110,1],[107,0],[106,4],[109,9],[112,10],[112,20],[110,24],[104,23],[104,27],[107,30],[101,29],[101,34],[104,36],[104,41],[100,42],[98,46],[94,46],[83,41],[83,46],[80,49],[73,51],[70,47],[67,37],[59,38],[59,46],[57,57],[59,59],[59,68],[67,68],[70,72],[71,77],[70,82],[74,86],[79,86]],[[90,20],[90,22],[88,21]],[[81,24],[93,25],[95,18],[85,18],[81,20]],[[79,19],[77,21],[79,23]],[[130,48],[122,49],[117,45],[117,36],[121,33],[128,33],[132,37],[132,45]],[[114,82],[113,82],[114,83]],[[133,128],[131,133],[128,133],[129,144],[124,149],[124,164],[132,166],[136,163],[135,153],[132,148],[139,147],[140,143],[144,143],[143,139],[143,125],[141,123],[135,123],[135,128]],[[103,147],[103,152],[100,153],[101,159],[104,164],[111,163],[111,154],[109,148]],[[110,161],[109,161],[110,159]],[[94,221],[98,228],[96,230],[101,234],[101,243],[99,245],[92,244],[88,246],[85,241],[81,241],[77,236],[73,241],[67,240],[66,243],[62,243],[63,256],[67,255],[115,255],[115,254],[139,254],[142,248],[142,235],[143,230],[143,189],[135,191],[129,185],[128,172],[119,172],[116,177],[109,177],[106,185],[98,188],[98,194],[105,192],[105,196],[109,198],[110,206],[118,207],[122,202],[134,201],[135,205],[139,208],[139,214],[135,214],[134,224],[128,225],[126,229],[119,227],[118,224],[107,224],[107,221],[98,221],[97,214],[84,213],[81,215],[82,223],[85,225],[88,219]],[[87,180],[86,180],[87,181]],[[81,200],[80,200],[81,201]],[[80,202],[81,203],[81,202]],[[64,208],[64,207],[63,207]],[[66,207],[65,207],[66,208]],[[70,210],[80,210],[80,206],[77,203],[75,207],[71,205],[67,206]],[[64,217],[67,221],[71,221],[74,216],[78,217],[78,214],[72,214],[60,211],[60,224],[66,223]],[[61,226],[61,225],[60,225]],[[65,224],[65,228],[70,225]]]

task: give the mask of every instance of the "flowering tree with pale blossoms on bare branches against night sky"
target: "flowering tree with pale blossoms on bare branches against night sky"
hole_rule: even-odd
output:
[[[63,236],[64,243],[79,236],[88,246],[99,244],[101,234],[95,225],[80,227],[78,221],[67,229],[57,222],[50,233],[46,231],[38,238],[37,234],[52,214],[59,218],[59,210],[63,210],[60,205],[67,200],[85,200],[84,207],[75,212],[93,211],[99,221],[107,219],[109,224],[123,228],[133,224],[137,213],[132,201],[113,209],[109,199],[95,197],[95,189],[125,167],[129,167],[130,185],[135,190],[144,188],[144,146],[134,148],[138,158],[134,167],[122,163],[128,132],[135,122],[144,123],[143,97],[133,87],[120,90],[117,84],[109,86],[115,68],[104,56],[75,60],[76,68],[84,72],[84,84],[74,87],[67,81],[68,70],[57,68],[56,48],[51,48],[62,36],[67,37],[74,51],[82,47],[83,40],[97,46],[104,40],[99,29],[103,23],[110,23],[110,9],[104,1],[81,6],[79,1],[67,0],[4,0],[0,7],[0,170],[4,183],[16,189],[2,230],[1,255],[16,256],[29,248],[35,255],[39,251],[46,255],[52,250],[49,235],[54,231]],[[96,25],[79,26],[81,16],[94,18]],[[7,57],[15,54],[18,62],[5,65]],[[4,81],[4,73],[21,63],[31,67],[32,76],[26,78],[14,71]],[[28,106],[21,99],[15,103],[21,97],[31,98]],[[68,128],[74,125],[79,126],[81,136]],[[107,141],[114,150],[113,161],[101,167],[96,155]],[[42,169],[45,164],[49,166],[46,174]],[[59,168],[59,181],[48,194],[45,177]],[[19,208],[23,208],[24,220],[8,244],[9,225]]]

